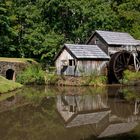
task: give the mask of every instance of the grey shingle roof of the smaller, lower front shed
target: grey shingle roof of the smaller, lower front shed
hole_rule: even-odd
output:
[[[65,44],[65,47],[77,59],[109,59],[110,58],[97,45]]]

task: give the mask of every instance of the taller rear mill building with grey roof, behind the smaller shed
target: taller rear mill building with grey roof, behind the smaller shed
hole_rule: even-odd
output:
[[[124,49],[135,50],[136,46],[140,45],[140,41],[125,32],[96,30],[86,44],[98,45],[106,54],[111,55]]]

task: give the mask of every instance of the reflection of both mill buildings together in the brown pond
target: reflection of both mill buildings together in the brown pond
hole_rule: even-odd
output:
[[[130,117],[124,118],[113,114],[110,106],[104,94],[57,96],[57,110],[66,128],[88,125],[94,135],[106,137],[130,132],[137,126],[139,117],[133,114],[134,110]]]

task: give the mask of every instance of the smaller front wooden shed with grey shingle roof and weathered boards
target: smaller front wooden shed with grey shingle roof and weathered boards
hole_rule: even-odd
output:
[[[57,74],[81,76],[95,70],[101,74],[109,59],[97,45],[65,44],[55,57],[55,66]]]

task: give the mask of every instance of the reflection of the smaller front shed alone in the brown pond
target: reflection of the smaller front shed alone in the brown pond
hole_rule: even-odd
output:
[[[110,111],[107,105],[107,96],[104,94],[95,96],[58,95],[57,110],[67,123],[67,127],[98,122],[102,116]],[[102,116],[99,114],[102,114]],[[81,121],[76,118],[81,119]]]

